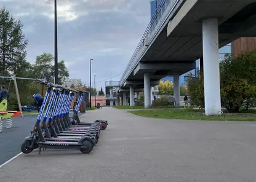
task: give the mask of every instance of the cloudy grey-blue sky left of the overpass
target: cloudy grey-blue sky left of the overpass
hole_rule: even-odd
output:
[[[70,78],[105,87],[119,81],[150,22],[149,0],[57,0],[58,60],[65,60]],[[22,20],[28,38],[27,60],[54,55],[54,0],[0,0],[0,7]]]

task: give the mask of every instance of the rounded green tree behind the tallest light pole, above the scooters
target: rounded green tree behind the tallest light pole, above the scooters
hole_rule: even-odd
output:
[[[54,80],[54,56],[50,53],[43,53],[36,57],[36,62],[33,65],[34,75],[36,78],[48,81]],[[70,76],[66,69],[65,61],[58,62],[58,84],[63,84],[64,80]]]

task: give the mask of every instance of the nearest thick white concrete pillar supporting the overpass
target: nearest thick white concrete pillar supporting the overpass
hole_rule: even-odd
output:
[[[202,22],[202,49],[204,57],[204,103],[206,114],[221,114],[218,20],[216,18],[210,18]]]

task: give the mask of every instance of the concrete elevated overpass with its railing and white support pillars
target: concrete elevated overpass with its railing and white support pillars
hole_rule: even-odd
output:
[[[246,36],[256,36],[256,0],[162,0],[120,80],[121,90],[150,88],[174,76],[179,106],[179,76],[203,60],[206,114],[220,113],[218,49]],[[133,101],[130,101],[133,105]]]

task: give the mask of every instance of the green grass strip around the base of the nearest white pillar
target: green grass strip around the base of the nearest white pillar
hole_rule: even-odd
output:
[[[129,113],[135,114],[137,116],[164,119],[185,119],[204,121],[256,121],[255,110],[246,111],[246,113],[223,113],[221,116],[206,116],[200,109],[140,110],[129,111]]]

